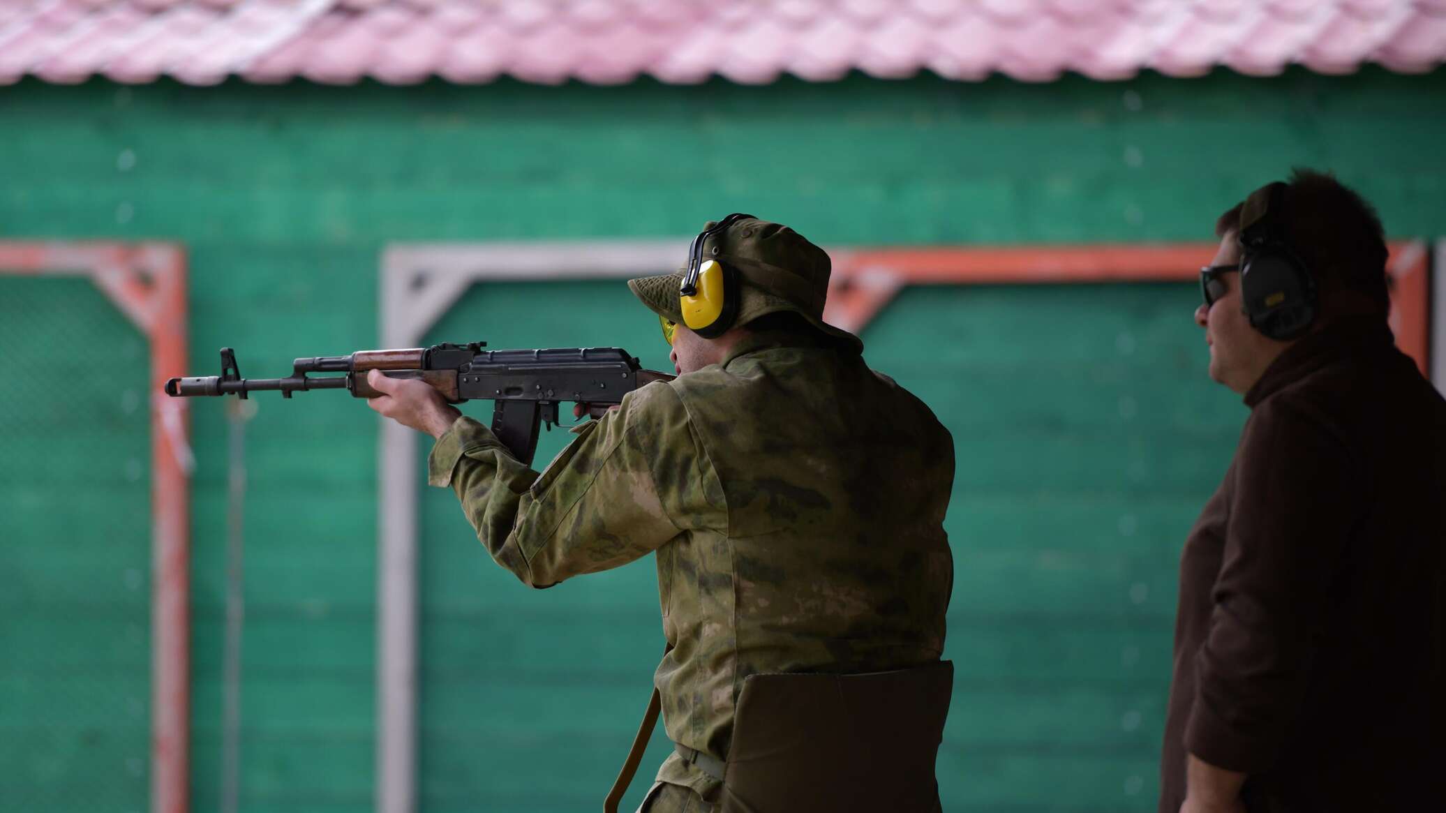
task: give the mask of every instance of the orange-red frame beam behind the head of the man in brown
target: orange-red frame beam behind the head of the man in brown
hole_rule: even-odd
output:
[[[905,285],[1028,285],[1067,282],[1194,282],[1216,243],[833,252],[824,318],[857,333]],[[1391,242],[1391,330],[1429,375],[1430,253],[1423,240]],[[1181,318],[1190,318],[1189,308]]]

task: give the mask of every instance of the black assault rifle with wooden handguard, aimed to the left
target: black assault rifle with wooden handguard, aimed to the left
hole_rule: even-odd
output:
[[[289,378],[244,379],[236,353],[221,349],[221,375],[174,378],[166,395],[236,395],[281,391],[291,398],[304,389],[348,389],[354,398],[376,398],[382,392],[366,382],[367,370],[388,378],[421,379],[450,404],[484,398],[496,401],[492,431],[512,454],[532,463],[538,427],[558,422],[558,404],[573,401],[587,406],[594,418],[622,404],[623,395],[672,376],[641,369],[638,359],[619,347],[557,347],[547,350],[483,350],[486,341],[434,344],[405,350],[359,350],[350,356],[296,359]],[[346,373],[308,378],[307,373]]]

